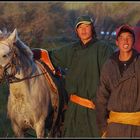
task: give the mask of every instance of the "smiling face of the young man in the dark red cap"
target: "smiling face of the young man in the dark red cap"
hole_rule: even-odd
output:
[[[133,47],[134,38],[133,35],[129,32],[121,33],[116,40],[116,45],[119,47],[122,52],[129,52]]]

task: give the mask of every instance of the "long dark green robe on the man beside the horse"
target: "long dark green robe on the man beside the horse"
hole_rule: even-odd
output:
[[[81,42],[53,50],[50,58],[54,66],[67,68],[66,90],[68,94],[95,101],[100,70],[114,50],[108,42],[92,40],[86,47]],[[95,110],[68,103],[64,120],[63,137],[98,137]]]

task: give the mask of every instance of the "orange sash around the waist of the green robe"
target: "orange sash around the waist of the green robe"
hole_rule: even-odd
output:
[[[77,95],[71,95],[70,101],[90,109],[95,109],[95,104],[92,101],[85,98],[81,98]]]

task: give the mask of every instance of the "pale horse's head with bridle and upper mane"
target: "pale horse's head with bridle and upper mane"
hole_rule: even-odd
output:
[[[16,29],[12,33],[0,32],[0,79],[15,75],[19,59],[32,60],[30,48],[19,39]]]

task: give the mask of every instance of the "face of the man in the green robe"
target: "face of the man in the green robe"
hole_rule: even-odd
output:
[[[92,39],[92,25],[80,24],[77,28],[77,34],[84,44],[87,43]]]

